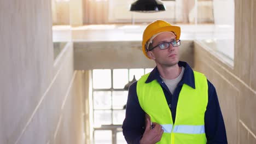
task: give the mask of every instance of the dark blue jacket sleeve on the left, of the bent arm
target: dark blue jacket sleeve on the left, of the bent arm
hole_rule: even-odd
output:
[[[145,112],[139,105],[136,92],[137,82],[129,87],[126,114],[123,122],[123,134],[127,143],[138,143],[144,133]]]

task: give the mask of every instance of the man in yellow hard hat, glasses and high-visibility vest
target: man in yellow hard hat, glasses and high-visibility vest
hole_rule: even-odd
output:
[[[156,67],[129,88],[127,143],[227,143],[214,86],[179,61],[180,35],[180,27],[162,20],[143,33],[142,50]]]

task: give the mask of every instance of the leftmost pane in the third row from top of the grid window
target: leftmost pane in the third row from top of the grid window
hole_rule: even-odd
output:
[[[111,110],[94,110],[94,125],[112,124]]]

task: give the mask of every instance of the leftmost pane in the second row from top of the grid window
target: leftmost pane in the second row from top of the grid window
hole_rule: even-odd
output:
[[[94,92],[94,109],[111,109],[111,92]]]

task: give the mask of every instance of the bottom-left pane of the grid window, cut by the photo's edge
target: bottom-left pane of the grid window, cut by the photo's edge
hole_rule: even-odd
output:
[[[112,144],[111,130],[95,130],[94,131],[95,144]]]

